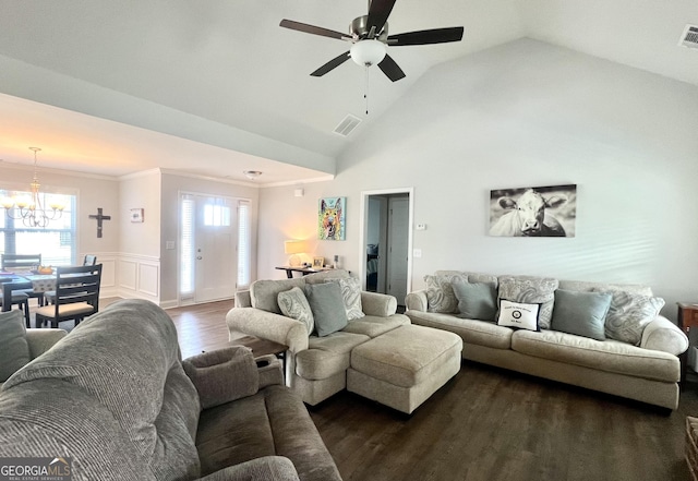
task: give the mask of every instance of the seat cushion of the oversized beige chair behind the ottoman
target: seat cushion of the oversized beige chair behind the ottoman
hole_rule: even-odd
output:
[[[370,339],[344,332],[311,336],[309,348],[296,354],[296,373],[305,380],[318,381],[344,372],[349,368],[351,350]]]

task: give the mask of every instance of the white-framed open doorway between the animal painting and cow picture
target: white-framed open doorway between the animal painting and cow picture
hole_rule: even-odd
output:
[[[404,308],[411,289],[412,190],[364,192],[362,203],[365,290],[394,296]]]

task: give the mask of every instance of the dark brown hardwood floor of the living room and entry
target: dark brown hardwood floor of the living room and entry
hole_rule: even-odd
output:
[[[167,311],[183,357],[227,342],[231,306]],[[685,419],[698,414],[698,383],[669,414],[464,362],[411,417],[347,392],[310,412],[346,481],[687,481]]]

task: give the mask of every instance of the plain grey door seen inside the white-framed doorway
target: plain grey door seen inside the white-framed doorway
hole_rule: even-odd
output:
[[[392,196],[388,199],[387,224],[386,293],[394,296],[398,305],[405,305],[409,257],[409,201],[407,196]]]

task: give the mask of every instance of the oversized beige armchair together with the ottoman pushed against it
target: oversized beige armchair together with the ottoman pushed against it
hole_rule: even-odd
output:
[[[299,315],[293,317],[286,303],[289,316],[281,314],[279,293],[290,293],[298,287],[306,294],[305,285],[313,290],[314,284],[348,277],[346,270],[332,270],[253,282],[249,292],[238,293],[236,308],[228,312],[230,337],[244,333],[288,346],[286,384],[309,405],[347,388],[411,413],[458,373],[462,341],[453,333],[410,325],[409,317],[396,314],[394,297],[360,291],[356,279],[349,281],[345,293],[354,301],[360,294],[364,315],[348,316],[347,325],[339,330],[317,334],[317,324],[311,328],[298,320]],[[350,309],[347,302],[352,304],[339,299],[342,310]]]

